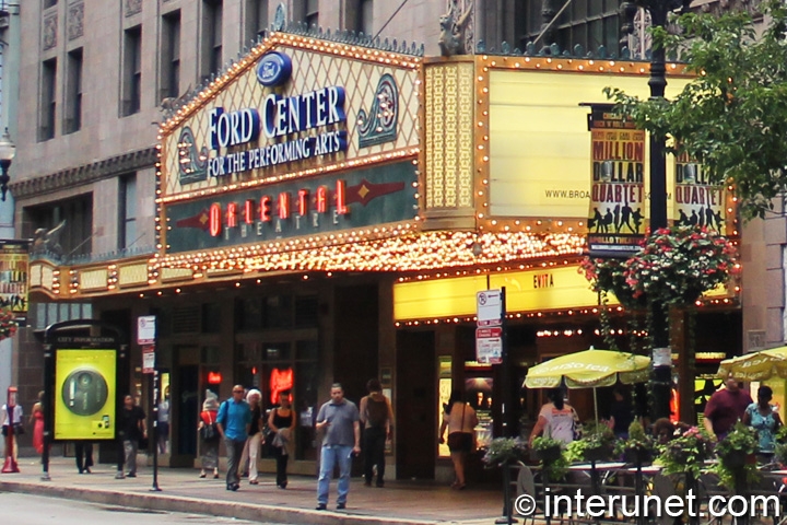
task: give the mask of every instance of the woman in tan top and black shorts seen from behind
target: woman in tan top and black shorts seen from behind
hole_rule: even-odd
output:
[[[475,410],[465,402],[459,390],[451,390],[446,411],[443,415],[439,442],[445,443],[444,434],[448,429],[448,448],[456,474],[456,480],[451,485],[453,489],[462,490],[465,488],[465,460],[475,444],[477,424]]]

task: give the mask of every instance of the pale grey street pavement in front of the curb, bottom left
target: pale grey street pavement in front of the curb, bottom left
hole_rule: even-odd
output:
[[[3,510],[3,521],[5,523],[25,525],[49,525],[55,523],[55,520],[60,525],[108,522],[111,522],[113,525],[138,525],[141,521],[151,525],[200,525],[202,523],[245,525],[259,523],[234,517],[150,511],[12,492],[0,493],[0,508]]]

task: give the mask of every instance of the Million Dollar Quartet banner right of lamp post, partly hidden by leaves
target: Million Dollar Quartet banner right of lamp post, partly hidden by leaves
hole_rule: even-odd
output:
[[[715,185],[703,165],[685,153],[676,158],[674,222],[726,231],[727,207],[724,185]]]

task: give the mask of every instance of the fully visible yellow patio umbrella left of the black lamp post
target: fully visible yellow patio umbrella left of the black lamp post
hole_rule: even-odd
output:
[[[582,352],[568,353],[537,364],[528,370],[525,386],[528,388],[556,388],[564,382],[568,388],[592,388],[596,420],[598,399],[596,388],[648,380],[650,358],[615,350],[597,350],[590,347]]]

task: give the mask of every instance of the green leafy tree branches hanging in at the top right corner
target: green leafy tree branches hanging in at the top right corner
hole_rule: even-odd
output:
[[[764,0],[757,11],[760,34],[744,10],[691,12],[677,19],[678,34],[653,31],[654,45],[696,75],[674,98],[604,89],[637,126],[701,162],[716,184],[731,183],[748,219],[764,217],[787,189],[787,5]]]

